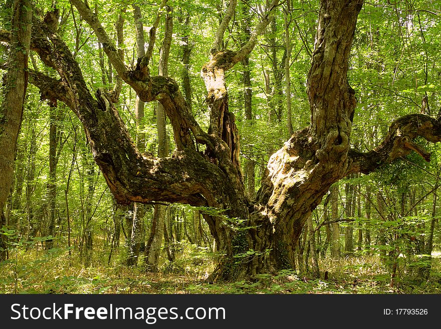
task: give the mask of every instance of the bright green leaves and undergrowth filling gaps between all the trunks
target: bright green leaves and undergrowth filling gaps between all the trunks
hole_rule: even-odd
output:
[[[11,10],[7,1],[0,1],[2,29],[10,29]],[[125,23],[123,28],[125,63],[132,67],[136,63],[136,42],[131,1],[97,2],[97,16],[112,40],[116,40],[115,23],[121,10]],[[148,28],[156,17],[157,4],[138,4],[143,15],[145,38]],[[35,2],[36,10],[45,13],[51,8],[49,0]],[[200,69],[209,59],[209,51],[226,2],[209,0],[173,0],[173,39],[169,58],[168,75],[182,86],[182,72],[188,69],[191,85],[192,112],[202,129],[207,129],[209,113],[206,107],[206,90]],[[238,5],[242,6],[242,5]],[[252,160],[255,167],[255,188],[260,187],[266,165],[271,154],[289,138],[286,128],[285,71],[286,56],[283,7],[278,7],[274,22],[259,38],[258,45],[249,56],[249,66],[239,63],[227,73],[229,110],[236,116],[240,130],[241,164]],[[83,77],[90,91],[97,88],[111,90],[117,78],[103,55],[92,29],[71,10],[67,0],[57,2],[62,14],[58,34],[67,43],[78,60]],[[292,120],[294,129],[309,124],[310,109],[306,81],[316,30],[319,3],[300,2],[292,4],[290,32],[292,56],[290,77],[292,88]],[[429,109],[436,116],[441,106],[439,32],[441,23],[436,15],[439,1],[395,2],[383,4],[365,3],[359,15],[353,42],[348,72],[350,85],[356,91],[357,109],[354,116],[351,145],[359,151],[377,146],[388,131],[390,122],[399,116],[421,111],[421,101],[427,96]],[[94,9],[95,10],[95,9]],[[234,51],[246,41],[243,21],[251,30],[260,21],[253,3],[249,13],[238,10],[226,31],[225,47]],[[36,14],[37,15],[37,14]],[[250,16],[250,19],[248,19]],[[189,17],[189,23],[186,18]],[[164,36],[163,18],[156,32],[151,75],[157,74],[159,49]],[[182,63],[183,37],[191,50],[187,68]],[[0,62],[6,62],[9,49],[0,45]],[[59,79],[58,74],[46,67],[31,52],[30,68]],[[245,118],[244,71],[250,70],[252,91],[252,120]],[[113,71],[112,71],[113,70]],[[266,76],[269,83],[266,81]],[[268,85],[266,85],[268,83]],[[5,87],[0,87],[5,88]],[[278,90],[279,88],[279,90]],[[2,90],[0,90],[1,92]],[[135,98],[133,90],[123,85],[119,101],[115,104],[135,140],[144,133],[145,149],[156,155],[155,104],[145,105],[145,117],[141,127],[136,125]],[[200,245],[190,242],[195,239],[193,211],[223,219],[223,224],[240,238],[234,247],[238,250],[235,260],[245,262],[270,252],[248,249],[244,234],[251,227],[246,219],[231,218],[229,209],[190,207],[173,205],[174,217],[169,225],[173,239],[162,250],[158,277],[143,273],[141,266],[126,268],[121,264],[127,257],[123,247],[130,238],[129,231],[133,212],[121,210],[118,215],[113,197],[107,189],[105,179],[95,165],[89,152],[86,135],[78,118],[61,102],[55,109],[57,118],[51,119],[54,111],[46,100],[42,100],[37,88],[29,85],[24,108],[22,129],[19,136],[14,192],[8,205],[9,223],[13,229],[3,228],[7,237],[10,258],[2,263],[0,286],[2,292],[230,292],[230,293],[377,293],[377,292],[439,292],[441,282],[439,258],[441,248],[439,232],[439,205],[436,203],[439,190],[439,167],[441,149],[437,145],[418,139],[416,143],[431,152],[431,162],[426,163],[415,153],[401,161],[380,168],[369,175],[348,177],[339,182],[338,218],[346,219],[345,206],[349,204],[344,192],[345,184],[354,187],[358,210],[348,216],[351,221],[339,222],[340,240],[347,228],[352,228],[351,238],[357,240],[360,228],[362,235],[370,233],[371,241],[363,239],[360,250],[346,254],[347,259],[330,258],[329,241],[326,244],[324,222],[325,204],[322,202],[314,212],[317,251],[323,253],[320,268],[329,271],[330,280],[308,278],[310,254],[307,254],[308,239],[301,238],[298,246],[297,271],[287,270],[276,275],[259,274],[253,280],[235,282],[231,285],[209,285],[202,281],[214,269],[222,253],[213,251],[213,239],[207,223],[200,222]],[[274,113],[277,112],[277,113]],[[1,115],[1,114],[0,114]],[[57,181],[55,197],[55,247],[42,250],[48,236],[50,195],[49,124],[55,123],[58,131]],[[174,148],[171,125],[167,122],[169,149]],[[203,148],[200,149],[203,151]],[[248,184],[248,181],[247,181]],[[370,189],[368,197],[367,188]],[[434,196],[436,195],[436,196]],[[324,198],[326,199],[326,197]],[[381,201],[382,200],[382,201]],[[323,200],[324,201],[324,200]],[[328,200],[329,201],[329,200]],[[381,201],[381,202],[380,202]],[[435,201],[435,202],[434,202]],[[383,209],[380,204],[384,203]],[[432,213],[433,204],[434,213]],[[367,209],[370,207],[370,217]],[[69,210],[69,211],[68,211]],[[326,211],[330,212],[330,203]],[[381,213],[380,213],[381,212]],[[118,217],[119,216],[119,217]],[[146,207],[143,224],[144,241],[148,239],[153,210]],[[328,214],[329,217],[329,214]],[[331,218],[328,218],[330,220]],[[120,246],[112,244],[115,238],[114,220],[122,223]],[[430,225],[434,220],[432,255],[427,255]],[[331,228],[332,229],[332,228]],[[92,263],[84,267],[87,232],[93,236]],[[179,236],[179,239],[177,238]],[[194,242],[194,241],[193,241]],[[68,247],[68,244],[71,247]],[[174,248],[175,259],[169,261],[166,249]],[[303,248],[303,249],[302,249]],[[112,250],[112,257],[110,257]],[[300,251],[302,253],[300,254]],[[69,252],[70,256],[67,256]],[[430,257],[429,257],[430,256]],[[109,258],[111,258],[109,260]],[[142,258],[142,257],[141,257]],[[301,264],[299,264],[299,261]],[[53,263],[59,265],[49,266]],[[107,264],[109,263],[108,267]],[[140,261],[142,264],[142,261]],[[300,266],[302,265],[302,266]],[[422,271],[429,268],[429,275],[421,279]],[[323,272],[323,271],[322,271]],[[394,277],[394,287],[391,275]],[[426,272],[425,272],[426,273]],[[185,284],[177,282],[182,276]],[[323,277],[323,273],[322,273]],[[155,281],[156,280],[156,281]],[[185,285],[185,287],[183,287]],[[396,287],[398,285],[398,287]]]

